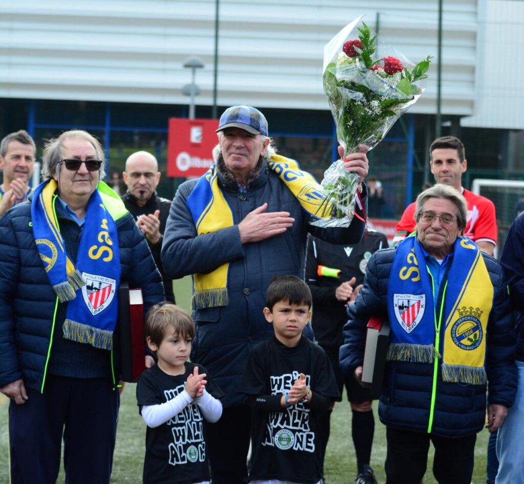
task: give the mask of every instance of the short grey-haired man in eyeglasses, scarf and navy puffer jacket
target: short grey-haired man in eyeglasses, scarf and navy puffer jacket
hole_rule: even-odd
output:
[[[340,364],[362,379],[366,323],[387,318],[390,344],[379,417],[387,484],[418,484],[430,441],[438,482],[469,484],[477,432],[503,424],[515,400],[515,333],[497,261],[470,239],[466,201],[438,184],[417,198],[416,232],[375,253],[348,307]]]

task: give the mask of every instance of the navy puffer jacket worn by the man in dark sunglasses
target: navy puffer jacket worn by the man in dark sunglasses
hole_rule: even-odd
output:
[[[147,310],[165,299],[160,273],[130,213],[116,220],[116,229],[121,280],[142,289]],[[31,204],[17,205],[0,219],[0,386],[22,378],[42,390],[56,305],[31,228]],[[115,354],[116,378],[118,359]]]

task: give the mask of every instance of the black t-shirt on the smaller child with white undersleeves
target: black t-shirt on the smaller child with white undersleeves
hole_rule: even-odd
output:
[[[138,379],[138,406],[157,405],[176,397],[185,388],[185,380],[195,366],[205,373],[205,386],[215,398],[224,393],[207,370],[200,365],[185,363],[183,375],[168,375],[158,367],[147,369]],[[205,452],[203,415],[193,401],[182,412],[162,425],[146,431],[144,482],[155,484],[192,484],[209,480],[208,455]]]

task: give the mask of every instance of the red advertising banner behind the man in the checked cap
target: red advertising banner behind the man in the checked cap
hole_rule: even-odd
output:
[[[167,176],[187,178],[203,175],[213,164],[218,142],[217,119],[169,118]]]

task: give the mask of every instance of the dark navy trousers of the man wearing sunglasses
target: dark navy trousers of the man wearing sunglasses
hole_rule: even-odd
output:
[[[48,376],[43,394],[9,405],[12,484],[54,484],[64,440],[65,482],[105,484],[111,476],[119,395],[108,379]]]

